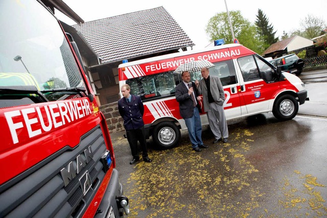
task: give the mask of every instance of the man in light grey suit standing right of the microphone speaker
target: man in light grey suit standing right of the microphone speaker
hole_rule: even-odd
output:
[[[219,77],[209,76],[207,67],[201,68],[203,79],[195,81],[199,94],[203,95],[204,112],[208,117],[211,131],[215,136],[213,143],[222,140],[228,142],[228,128],[224,111],[225,94]],[[218,120],[218,122],[217,122]]]

